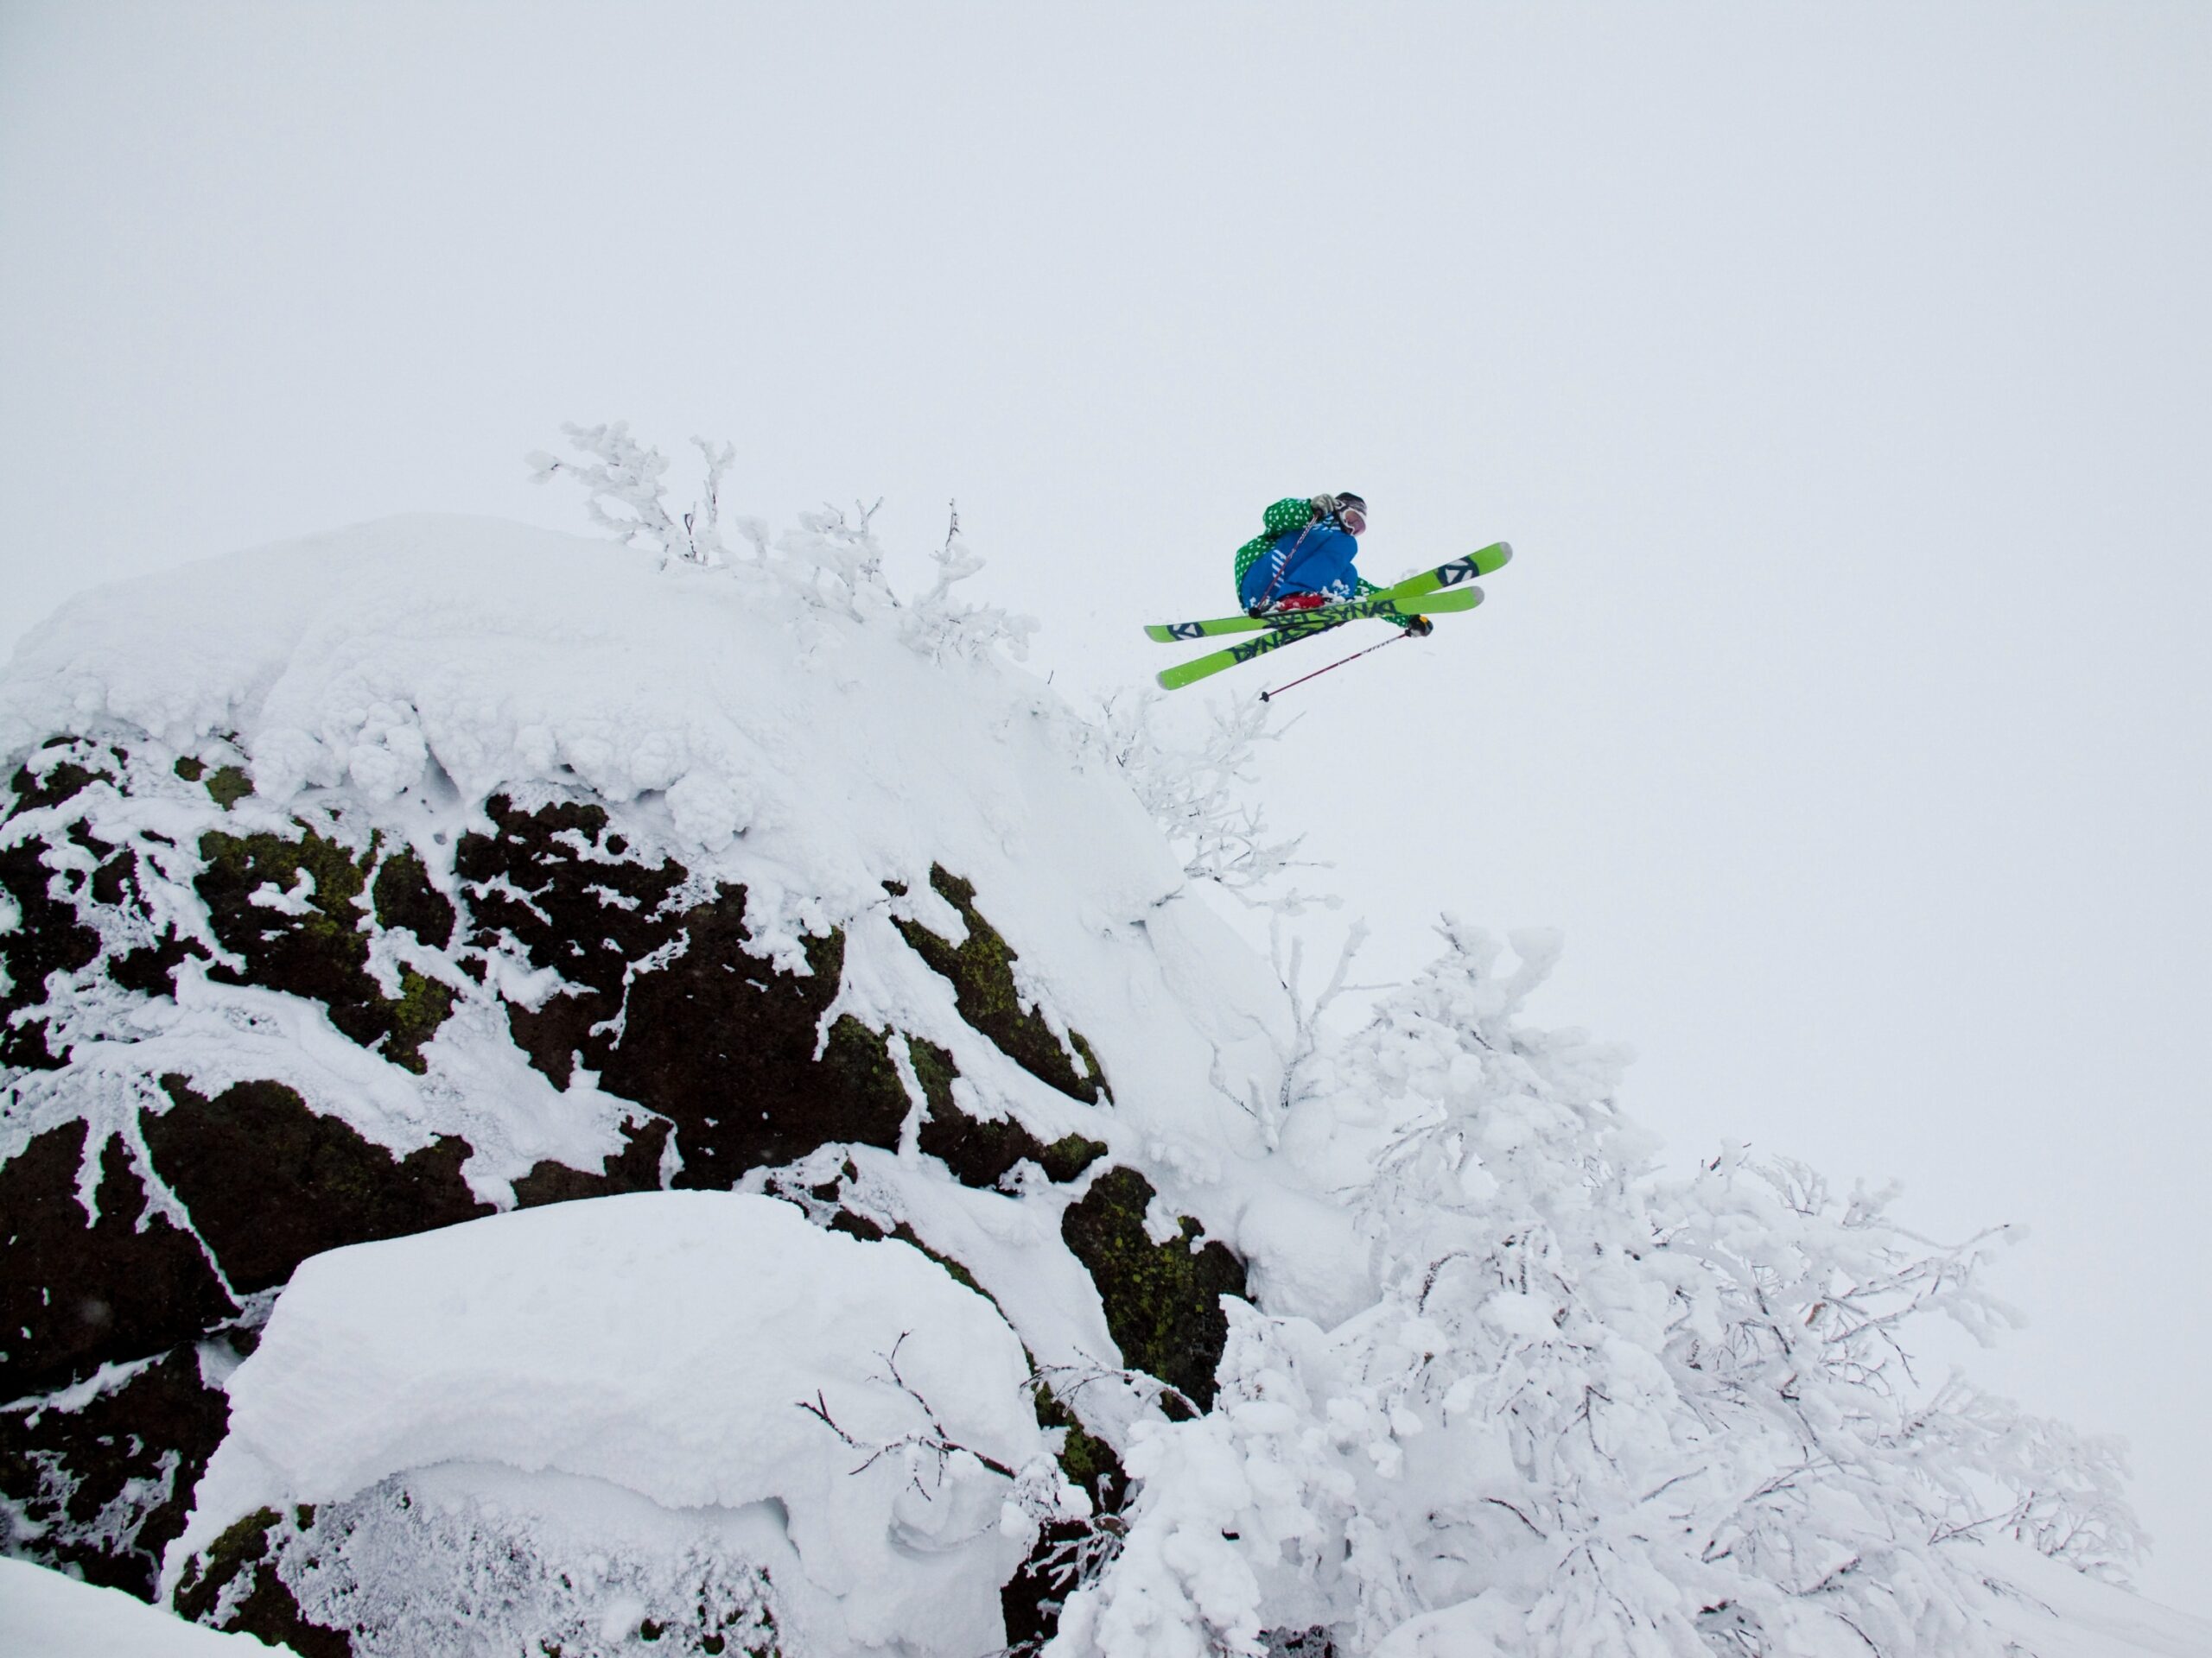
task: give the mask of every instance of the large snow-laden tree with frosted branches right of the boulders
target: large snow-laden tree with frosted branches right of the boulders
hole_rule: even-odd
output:
[[[1133,1446],[1124,1545],[1053,1658],[1283,1629],[1347,1658],[2002,1658],[1978,1539],[2132,1554],[2110,1446],[1911,1371],[1916,1322],[2006,1322],[1995,1236],[1931,1245],[1792,1163],[1661,1174],[1621,1057],[1515,1019],[1555,937],[1502,973],[1442,931],[1294,1105],[1378,1125],[1380,1298],[1334,1331],[1232,1307],[1214,1410]]]

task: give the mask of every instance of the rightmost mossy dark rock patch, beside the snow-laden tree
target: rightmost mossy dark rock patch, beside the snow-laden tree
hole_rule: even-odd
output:
[[[1084,1262],[1106,1304],[1121,1362],[1157,1375],[1199,1410],[1214,1404],[1214,1371],[1230,1340],[1221,1295],[1243,1295],[1243,1262],[1221,1242],[1192,1249],[1199,1222],[1155,1245],[1144,1229],[1152,1183],[1137,1169],[1106,1169],[1060,1218],[1060,1236]],[[1175,1397],[1166,1399],[1177,1415]]]

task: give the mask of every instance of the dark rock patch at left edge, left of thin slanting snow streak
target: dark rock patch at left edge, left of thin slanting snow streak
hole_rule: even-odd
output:
[[[192,1236],[148,1214],[122,1138],[100,1154],[100,1220],[88,1220],[77,1203],[88,1132],[64,1123],[0,1167],[4,1397],[46,1393],[102,1364],[199,1340],[237,1315]]]

